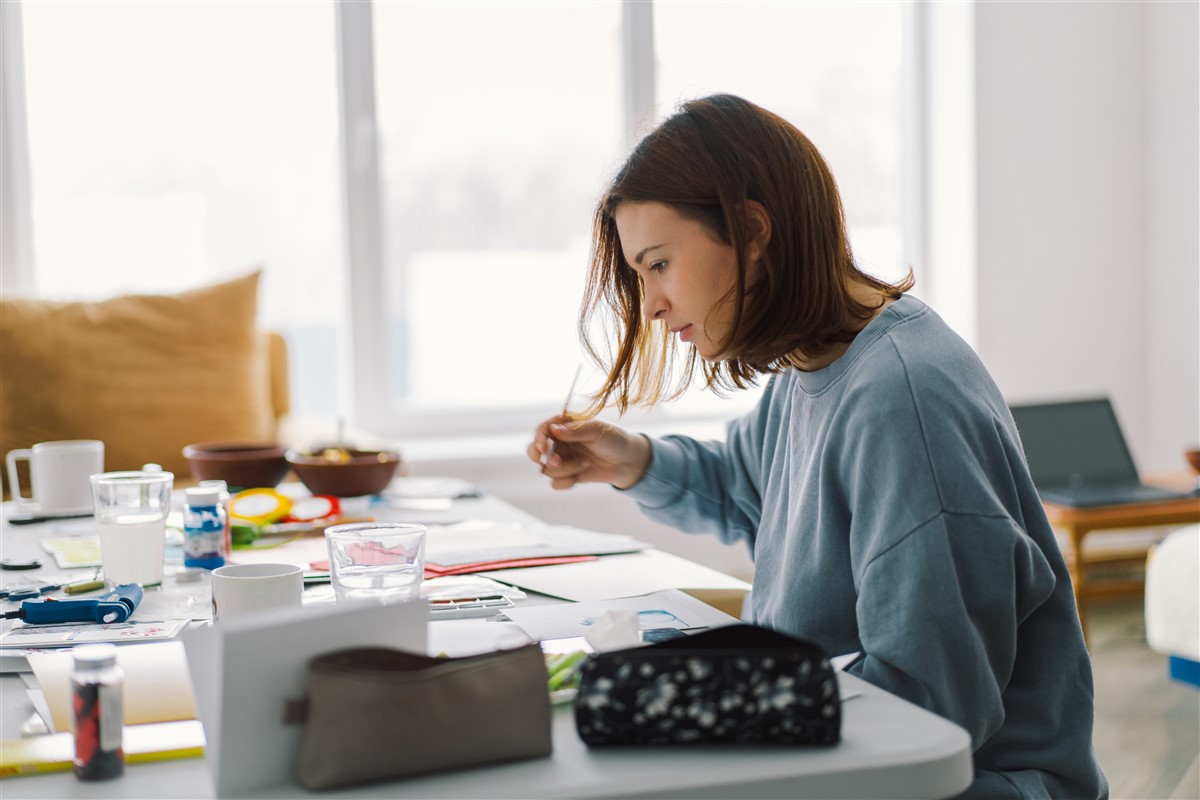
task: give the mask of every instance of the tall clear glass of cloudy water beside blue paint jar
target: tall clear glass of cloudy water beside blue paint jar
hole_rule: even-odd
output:
[[[91,476],[100,525],[100,560],[109,587],[162,583],[170,473],[100,473]]]

